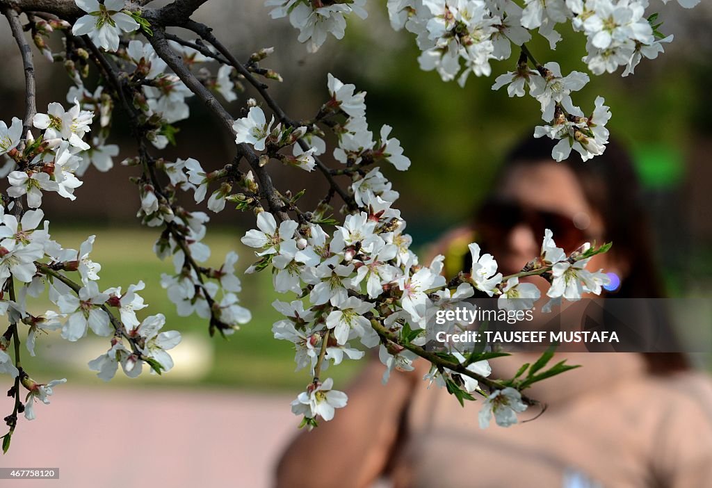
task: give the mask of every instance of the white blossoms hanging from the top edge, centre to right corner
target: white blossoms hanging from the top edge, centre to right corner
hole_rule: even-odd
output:
[[[300,29],[299,41],[308,41],[309,51],[324,42],[327,33],[337,38],[344,35],[343,16],[354,11],[365,18],[365,0],[326,2],[307,0],[267,0],[275,7],[273,18],[289,16]],[[667,0],[664,0],[667,3]],[[679,0],[692,8],[699,0]],[[420,49],[419,65],[423,70],[436,70],[444,81],[458,80],[464,86],[468,76],[491,74],[491,60],[511,58],[513,46],[522,55],[518,67],[496,79],[493,89],[508,85],[510,96],[523,96],[525,87],[541,103],[543,120],[550,125],[537,127],[535,137],[547,136],[557,142],[552,157],[562,161],[571,149],[582,160],[602,154],[608,142],[603,126],[610,113],[597,97],[592,116],[573,105],[570,93],[587,82],[585,73],[574,71],[562,75],[557,63],[539,65],[525,43],[533,31],[546,38],[552,49],[561,40],[555,30],[559,23],[571,23],[574,31],[587,38],[582,60],[595,75],[613,73],[624,66],[623,76],[634,72],[642,58],[654,59],[664,52],[664,37],[657,28],[658,14],[648,14],[649,0],[525,0],[521,7],[513,0],[388,0],[391,26],[405,28],[416,36]],[[533,64],[533,69],[529,64]],[[556,115],[556,118],[555,118]],[[553,122],[553,123],[552,123]]]

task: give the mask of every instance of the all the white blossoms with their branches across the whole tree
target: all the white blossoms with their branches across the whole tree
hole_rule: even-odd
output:
[[[684,6],[694,3],[679,1]],[[482,253],[476,243],[469,246],[471,269],[450,282],[443,276],[443,256],[429,263],[419,261],[395,206],[399,193],[386,178],[387,169],[381,171],[384,164],[405,171],[411,161],[392,137],[392,127],[370,130],[366,94],[355,85],[328,75],[328,99],[318,114],[293,122],[253,79],[253,75],[281,79],[258,66],[271,48],[254,53],[241,65],[205,34],[191,42],[157,31],[167,39],[159,43],[133,3],[75,0],[75,4],[86,15],[73,26],[61,19],[41,21],[28,16],[36,46],[48,59],[63,61],[74,82],[67,95],[68,107],[53,102],[24,123],[17,118],[9,125],[0,122],[0,157],[6,159],[4,176],[9,181],[9,198],[0,201],[0,314],[6,314],[10,322],[0,336],[0,373],[16,378],[16,384],[28,391],[21,405],[20,392],[11,390],[16,407],[6,420],[11,430],[4,437],[4,448],[16,414],[24,411],[26,418],[34,418],[35,403],[49,403],[53,388],[65,381],[38,383],[20,367],[19,354],[12,361],[10,345],[14,342],[18,350],[18,332],[24,326],[28,328],[26,348],[32,355],[41,334],[48,331],[58,331],[68,341],[78,341],[89,331],[109,338],[108,351],[89,363],[105,381],[115,376],[119,366],[130,377],[140,375],[144,364],[152,373],[173,367],[167,351],[179,344],[181,336],[177,331],[162,331],[163,314],[140,318],[140,311],[147,308],[141,295],[145,284],[100,288],[101,266],[92,258],[94,236],[78,250],[63,248],[52,240],[41,209],[44,193],[74,200],[83,184],[80,178],[90,166],[100,171],[113,166],[119,150],[108,139],[113,107],[118,103],[127,112],[139,147],[137,157],[124,161],[140,169],[140,176],[133,179],[140,195],[137,217],[144,225],[160,229],[155,253],[173,264],[173,271],[162,275],[162,287],[179,316],[196,314],[208,320],[211,334],[232,334],[251,319],[237,296],[241,291],[236,276],[238,256],[230,252],[220,267],[206,267],[211,254],[204,243],[209,216],[184,208],[179,195],[187,192],[195,203],[206,201],[213,213],[233,203],[239,210],[256,214],[256,228],[241,238],[256,255],[246,272],[270,272],[277,292],[293,294],[273,302],[283,315],[273,324],[273,334],[293,344],[297,368],[310,371],[310,383],[291,405],[295,414],[303,416],[304,425],[312,427],[317,418],[330,420],[335,409],[347,403],[347,396],[333,388],[331,378],[320,379],[329,366],[361,359],[364,349],[377,347],[386,382],[392,371],[412,370],[414,361],[424,356],[426,324],[439,312],[473,307],[467,300],[476,294],[497,297],[498,306],[508,310],[528,309],[540,299],[538,288],[520,282],[519,274],[505,277],[498,272],[493,255]],[[273,7],[274,18],[289,18],[310,51],[316,51],[329,33],[342,37],[348,14],[361,18],[367,14],[365,0],[268,0],[266,4]],[[395,28],[416,34],[422,68],[464,84],[469,73],[489,75],[490,60],[510,58],[512,43],[525,53],[523,45],[533,28],[555,43],[553,27],[567,20],[585,32],[591,46],[602,50],[590,52],[594,72],[592,63],[604,63],[604,70],[608,65],[593,57],[604,56],[606,50],[623,52],[621,46],[631,42],[632,58],[653,57],[652,51],[659,48],[648,28],[655,34],[656,26],[642,17],[641,4],[646,6],[644,0],[621,0],[609,9],[604,0],[545,4],[536,0],[520,8],[511,0],[390,0],[388,9]],[[43,41],[53,30],[66,36],[66,53],[52,53]],[[150,42],[140,41],[140,32]],[[88,60],[106,81],[93,90],[85,86]],[[530,61],[534,69],[529,68]],[[179,63],[185,69],[179,69]],[[216,69],[212,69],[214,63]],[[633,68],[630,61],[629,70]],[[226,103],[233,102],[244,80],[258,88],[273,115],[268,120],[253,99],[246,101],[241,116],[234,120],[221,107],[219,116],[229,121],[226,127],[231,128],[236,144],[232,164],[207,171],[192,157],[152,156],[151,145],[164,149],[174,144],[178,130],[174,124],[190,115],[189,97],[199,95],[215,110],[220,102],[212,93]],[[596,100],[590,117],[572,102],[571,93],[587,81],[583,73],[564,76],[556,63],[540,66],[520,56],[517,70],[498,78],[496,86],[508,84],[510,95],[518,96],[528,87],[548,123],[537,127],[535,136],[560,139],[554,150],[557,159],[567,157],[571,149],[588,159],[604,149],[610,114],[602,98]],[[25,134],[23,125],[31,126]],[[327,132],[333,137],[327,137]],[[320,160],[327,154],[328,141],[335,142],[331,155],[340,164],[338,169]],[[242,159],[248,159],[250,171],[239,169]],[[328,195],[313,211],[303,211],[298,208],[302,193],[268,188],[271,180],[265,166],[271,161],[325,174],[330,181]],[[349,183],[341,188],[333,182],[334,176]],[[343,218],[333,217],[335,193],[345,203],[340,209]],[[550,283],[545,308],[562,299],[577,300],[584,293],[602,291],[607,276],[585,269],[598,252],[604,249],[584,247],[565,255],[547,230],[540,255],[529,264],[530,270],[538,270]],[[53,307],[36,315],[27,302],[45,294]],[[485,397],[481,425],[488,425],[492,415],[499,425],[511,425],[528,405],[520,393],[523,386],[488,378],[489,356],[451,348],[439,358],[444,363],[431,361],[424,380],[445,386],[459,401],[473,400],[473,393]]]

